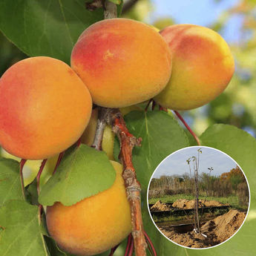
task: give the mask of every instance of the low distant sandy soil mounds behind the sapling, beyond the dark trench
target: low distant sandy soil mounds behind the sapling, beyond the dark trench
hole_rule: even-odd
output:
[[[211,207],[211,206],[229,206],[229,204],[220,203],[214,200],[199,200],[199,207]],[[178,199],[172,207],[178,209],[194,209],[194,200]]]

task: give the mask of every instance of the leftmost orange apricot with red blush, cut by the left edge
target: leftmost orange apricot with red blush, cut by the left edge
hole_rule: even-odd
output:
[[[23,59],[0,79],[0,144],[10,154],[40,160],[64,151],[85,130],[91,95],[64,62]]]

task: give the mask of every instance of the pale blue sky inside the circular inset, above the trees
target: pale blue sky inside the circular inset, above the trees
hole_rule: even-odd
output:
[[[220,176],[223,172],[228,172],[237,165],[232,158],[228,157],[221,151],[217,151],[214,148],[197,146],[183,148],[183,150],[171,154],[162,163],[160,163],[157,170],[154,172],[153,177],[157,178],[163,175],[182,175],[189,173],[186,160],[188,160],[189,157],[197,157],[198,148],[201,148],[202,150],[202,154],[200,154],[199,174],[203,172],[209,173],[208,168],[213,167],[214,171],[211,171],[211,175]],[[191,169],[192,168],[193,167],[191,165]]]

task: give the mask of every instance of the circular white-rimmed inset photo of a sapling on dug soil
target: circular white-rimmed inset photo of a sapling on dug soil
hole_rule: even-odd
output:
[[[171,242],[207,249],[229,240],[249,211],[246,176],[215,148],[183,148],[157,166],[148,184],[148,211]]]

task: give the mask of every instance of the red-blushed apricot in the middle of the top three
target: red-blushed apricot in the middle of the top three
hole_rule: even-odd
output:
[[[88,27],[71,53],[71,67],[93,102],[121,108],[160,93],[171,76],[171,53],[156,30],[131,19],[106,19]]]

